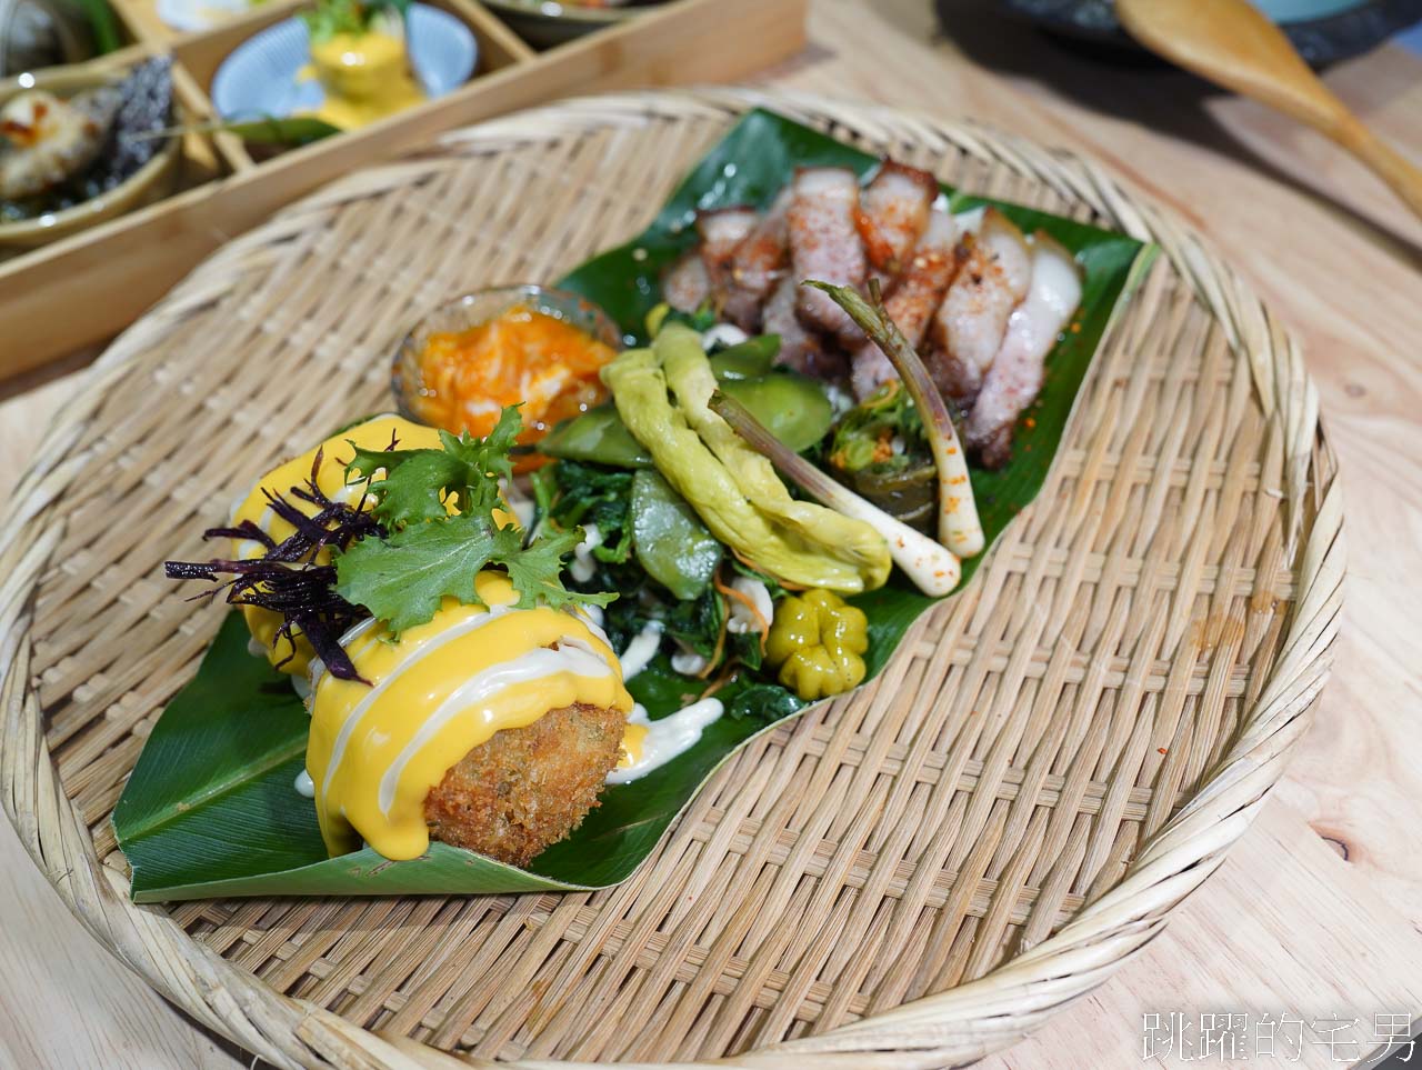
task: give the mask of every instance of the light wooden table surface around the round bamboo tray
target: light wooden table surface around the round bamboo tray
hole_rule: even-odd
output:
[[[1375,1015],[1422,1020],[1422,226],[1361,166],[1261,107],[1172,71],[1103,65],[984,9],[812,0],[812,46],[759,81],[1072,147],[1185,215],[1304,344],[1341,458],[1351,555],[1332,682],[1258,822],[1163,938],[980,1066],[1185,1066],[1197,1050],[1158,1044],[1146,1059],[1143,1047],[1142,1016],[1175,1012],[1244,1013],[1251,1029],[1291,1016],[1304,1022],[1297,1057],[1283,1043],[1250,1066],[1349,1066],[1374,1046]],[[1327,80],[1422,159],[1422,57],[1389,46]],[[73,388],[73,374],[11,386],[0,484]],[[109,959],[4,822],[0,933],[0,1067],[249,1064]]]

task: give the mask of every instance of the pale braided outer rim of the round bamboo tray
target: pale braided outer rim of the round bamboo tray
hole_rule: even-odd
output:
[[[1042,148],[971,121],[948,121],[809,94],[744,88],[620,92],[562,101],[454,131],[411,158],[354,172],[229,242],[192,272],[84,373],[20,480],[0,535],[0,794],[36,865],[105,948],[203,1026],[280,1067],[495,1066],[455,1059],[402,1036],[360,1029],[336,1013],[267,987],[191,938],[161,911],[135,906],[127,881],[102,865],[51,760],[31,686],[28,627],[33,595],[58,532],[48,509],[77,480],[88,455],[74,450],[90,415],[134,361],[175,324],[210,303],[225,276],[253,252],[299,232],[316,212],[370,196],[444,166],[456,147],[491,151],[553,141],[586,128],[650,118],[734,117],[764,105],[792,118],[869,137],[924,137],[1001,164],[1085,202],[1133,238],[1155,242],[1217,320],[1236,359],[1249,363],[1257,400],[1284,434],[1287,546],[1297,596],[1268,679],[1202,788],[1130,859],[1122,879],[1088,901],[1065,925],[984,976],[921,996],[829,1032],[715,1060],[758,1067],[929,1067],[981,1057],[1038,1027],[1055,1010],[1105,982],[1159,935],[1167,915],[1223,861],[1283,773],[1307,727],[1331,664],[1345,572],[1342,498],[1318,414],[1318,397],[1297,343],[1236,273],[1173,215],[1128,192],[1101,164]],[[448,155],[447,155],[448,154]],[[1320,480],[1327,470],[1328,478]],[[1317,511],[1305,518],[1308,488]],[[657,1066],[694,1066],[674,1063]],[[498,1066],[574,1067],[570,1061]]]

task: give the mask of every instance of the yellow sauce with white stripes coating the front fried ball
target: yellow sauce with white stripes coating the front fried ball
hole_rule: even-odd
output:
[[[573,703],[631,710],[617,656],[587,625],[556,609],[513,609],[502,573],[481,572],[475,583],[492,612],[447,599],[398,642],[378,626],[351,639],[347,652],[371,686],[319,674],[306,768],[333,857],[363,838],[385,858],[424,854],[425,797],[496,731]]]

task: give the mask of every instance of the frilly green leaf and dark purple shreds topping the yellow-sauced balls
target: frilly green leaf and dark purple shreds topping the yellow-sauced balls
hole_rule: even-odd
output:
[[[364,484],[354,504],[321,492],[317,451],[303,485],[284,495],[264,491],[272,512],[294,528],[289,538],[276,542],[250,521],[212,528],[203,538],[250,539],[263,552],[242,561],[169,561],[165,572],[218,583],[199,598],[225,589],[232,605],[279,613],[277,640],[290,647],[280,664],[296,655],[297,636],[306,636],[327,670],[344,680],[360,679],[340,646],[347,629],[375,616],[398,636],[434,618],[445,598],[482,605],[475,576],[485,568],[508,573],[520,609],[607,605],[616,595],[563,586],[562,559],[582,541],[582,529],[525,544],[525,532],[503,514],[499,481],[512,475],[509,451],[520,430],[515,406],[485,438],[441,431],[439,450],[400,450],[394,438],[385,450],[351,443],[347,480]],[[321,561],[327,549],[331,563]]]

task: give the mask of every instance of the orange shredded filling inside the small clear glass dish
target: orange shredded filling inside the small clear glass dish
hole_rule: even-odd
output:
[[[525,304],[468,330],[431,334],[419,353],[415,418],[486,435],[505,406],[523,403],[523,444],[607,398],[599,370],[617,356],[584,330]]]

